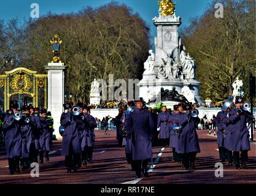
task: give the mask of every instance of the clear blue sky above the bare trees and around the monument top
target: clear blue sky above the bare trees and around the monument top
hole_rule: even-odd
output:
[[[182,26],[189,25],[190,18],[201,15],[208,3],[212,0],[177,0],[176,15],[182,17]],[[0,20],[9,21],[18,18],[20,21],[28,19],[31,12],[31,4],[39,4],[39,15],[52,13],[78,12],[83,7],[99,7],[111,1],[108,0],[1,0]],[[141,17],[150,25],[152,41],[157,36],[157,31],[153,25],[152,18],[158,16],[158,0],[117,0],[131,7],[134,12],[138,12]],[[173,1],[175,2],[175,0]]]

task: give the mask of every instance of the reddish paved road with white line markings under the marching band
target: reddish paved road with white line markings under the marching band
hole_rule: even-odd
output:
[[[256,183],[256,143],[251,142],[247,170],[236,170],[235,166],[223,165],[223,177],[215,177],[215,164],[219,162],[216,137],[206,130],[198,130],[201,153],[195,160],[196,170],[185,171],[182,165],[173,162],[171,148],[153,147],[153,167],[149,178],[134,177],[130,165],[126,164],[125,149],[119,148],[115,131],[104,135],[96,130],[96,147],[93,163],[80,168],[78,173],[66,173],[64,156],[60,155],[61,142],[53,141],[50,161],[39,167],[39,178],[32,178],[30,171],[8,174],[6,153],[0,151],[0,184],[3,183]],[[256,133],[255,133],[256,135]]]

